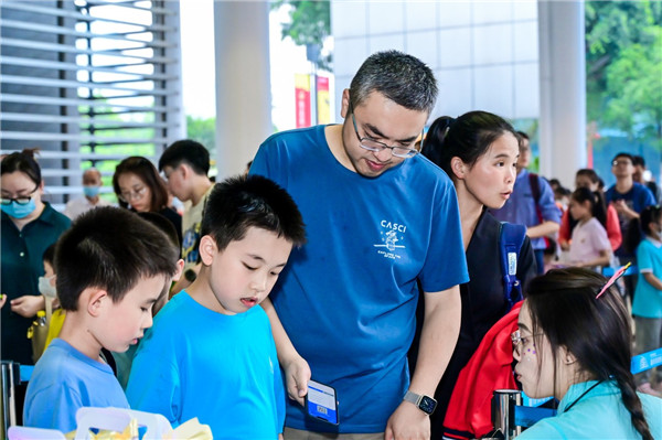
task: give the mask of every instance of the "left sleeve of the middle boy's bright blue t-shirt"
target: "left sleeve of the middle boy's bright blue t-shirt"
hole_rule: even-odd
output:
[[[134,358],[127,385],[131,409],[160,414],[177,427],[182,422],[179,378],[172,344],[146,337]]]

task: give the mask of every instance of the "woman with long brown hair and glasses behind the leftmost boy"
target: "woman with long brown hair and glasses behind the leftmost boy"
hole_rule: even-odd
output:
[[[157,168],[146,158],[132,155],[119,162],[113,189],[121,207],[138,213],[158,213],[172,223],[182,243],[182,216],[168,206],[168,189]]]

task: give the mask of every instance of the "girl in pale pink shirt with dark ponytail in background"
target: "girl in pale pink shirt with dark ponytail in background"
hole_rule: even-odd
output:
[[[611,245],[604,226],[607,214],[600,193],[578,187],[570,196],[569,210],[578,222],[569,245],[569,264],[589,268],[609,266]]]

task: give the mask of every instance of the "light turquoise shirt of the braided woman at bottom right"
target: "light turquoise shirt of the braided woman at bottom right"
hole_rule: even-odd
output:
[[[538,421],[517,440],[640,439],[615,382],[604,382],[580,398],[595,384],[590,380],[572,385],[560,400],[557,415]],[[641,393],[637,395],[653,438],[662,439],[662,399]]]

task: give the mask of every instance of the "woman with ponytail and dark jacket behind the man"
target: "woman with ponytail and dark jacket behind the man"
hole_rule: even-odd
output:
[[[503,118],[487,111],[470,111],[457,119],[441,117],[435,120],[425,138],[423,154],[446,171],[455,184],[470,277],[469,282],[460,285],[460,336],[435,393],[438,405],[430,418],[431,438],[441,439],[448,404],[460,371],[485,333],[516,301],[513,301],[513,292],[508,299],[504,296],[500,266],[501,223],[488,208],[502,207],[513,192],[520,155],[519,137]],[[515,266],[522,283],[536,275],[528,237],[524,237]]]

